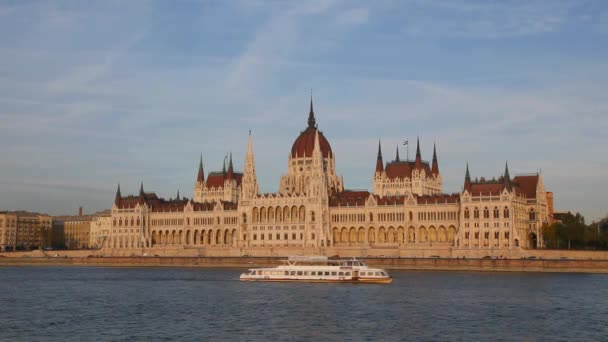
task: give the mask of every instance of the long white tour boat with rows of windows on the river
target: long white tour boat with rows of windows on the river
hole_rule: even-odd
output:
[[[274,268],[252,268],[241,274],[241,281],[297,281],[322,283],[390,284],[386,270],[369,268],[355,258],[330,260],[327,257],[291,256],[286,264]]]

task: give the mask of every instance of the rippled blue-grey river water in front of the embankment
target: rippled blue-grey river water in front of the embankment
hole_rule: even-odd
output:
[[[392,271],[391,285],[242,270],[0,267],[0,341],[607,341],[608,275]]]

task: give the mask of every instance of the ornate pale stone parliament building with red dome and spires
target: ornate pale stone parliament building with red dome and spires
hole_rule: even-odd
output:
[[[205,174],[201,156],[193,197],[163,199],[146,192],[122,196],[120,185],[103,248],[125,253],[175,251],[194,255],[502,256],[542,248],[552,193],[540,174],[471,177],[463,190],[444,193],[435,146],[432,160],[385,162],[380,143],[373,189],[344,189],[336,156],[319,130],[312,99],[279,191],[260,193],[253,139],[244,170],[232,155],[221,171]]]

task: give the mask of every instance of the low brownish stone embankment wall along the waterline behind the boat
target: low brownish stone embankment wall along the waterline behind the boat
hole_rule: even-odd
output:
[[[281,257],[1,257],[0,266],[255,268]],[[361,258],[370,266],[399,270],[608,273],[608,260]]]

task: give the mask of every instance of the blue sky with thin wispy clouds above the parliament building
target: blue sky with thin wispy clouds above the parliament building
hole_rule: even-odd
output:
[[[310,94],[349,189],[420,137],[444,191],[542,173],[608,213],[608,2],[0,0],[0,210],[192,196],[199,157],[278,190]],[[404,157],[407,148],[400,147]]]

